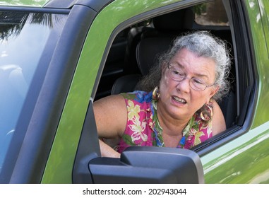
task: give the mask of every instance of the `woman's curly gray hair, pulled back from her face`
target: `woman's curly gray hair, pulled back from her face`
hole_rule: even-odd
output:
[[[173,46],[158,58],[157,65],[139,83],[138,87],[143,91],[152,91],[160,85],[162,78],[162,64],[168,63],[179,50],[186,48],[198,57],[213,59],[215,66],[215,86],[219,90],[213,96],[214,100],[221,100],[229,92],[230,58],[227,44],[207,31],[189,33],[174,40]]]

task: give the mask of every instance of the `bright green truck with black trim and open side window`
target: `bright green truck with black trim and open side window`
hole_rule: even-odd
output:
[[[102,158],[93,101],[195,30],[231,48],[227,130]],[[0,38],[0,183],[269,183],[269,1],[4,0]]]

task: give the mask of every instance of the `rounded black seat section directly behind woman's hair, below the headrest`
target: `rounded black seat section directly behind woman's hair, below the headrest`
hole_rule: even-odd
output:
[[[172,37],[147,37],[138,42],[136,60],[143,76],[156,64],[158,55],[166,52],[171,44]]]

